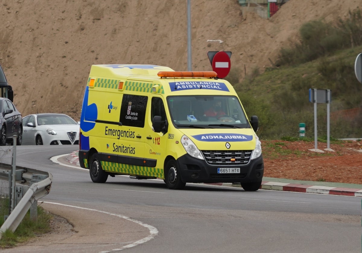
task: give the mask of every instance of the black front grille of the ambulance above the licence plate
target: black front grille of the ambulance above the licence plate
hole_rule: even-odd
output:
[[[207,164],[210,165],[246,165],[253,150],[202,150]]]

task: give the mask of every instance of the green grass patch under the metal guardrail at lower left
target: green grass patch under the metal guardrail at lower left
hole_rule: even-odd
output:
[[[0,226],[4,223],[4,216],[8,215],[9,198],[0,199]],[[0,249],[16,246],[18,243],[26,242],[30,238],[50,231],[50,220],[52,215],[38,206],[38,219],[30,219],[30,212],[25,215],[15,232],[6,230],[0,239]]]

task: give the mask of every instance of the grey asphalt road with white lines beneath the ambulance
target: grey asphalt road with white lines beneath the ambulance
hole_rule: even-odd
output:
[[[206,184],[169,190],[126,176],[95,184],[87,170],[50,160],[77,149],[19,146],[17,165],[53,175],[39,202],[78,232],[3,252],[361,252],[361,198]]]

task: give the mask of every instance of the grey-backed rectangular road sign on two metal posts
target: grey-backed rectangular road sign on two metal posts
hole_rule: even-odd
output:
[[[317,149],[317,103],[327,103],[327,149],[329,142],[329,111],[331,103],[331,90],[309,89],[309,102],[314,103],[314,148]]]

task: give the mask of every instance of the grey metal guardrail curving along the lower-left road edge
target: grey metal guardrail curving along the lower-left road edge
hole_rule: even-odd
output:
[[[12,166],[0,163],[0,167],[0,179],[8,180],[9,173],[12,171]],[[21,184],[23,186],[28,185],[30,187],[5,220],[4,224],[0,227],[0,239],[2,233],[7,229],[14,232],[31,205],[39,198],[42,198],[49,193],[53,176],[48,172],[16,166],[15,181],[16,184]],[[33,183],[34,181],[37,182]]]

